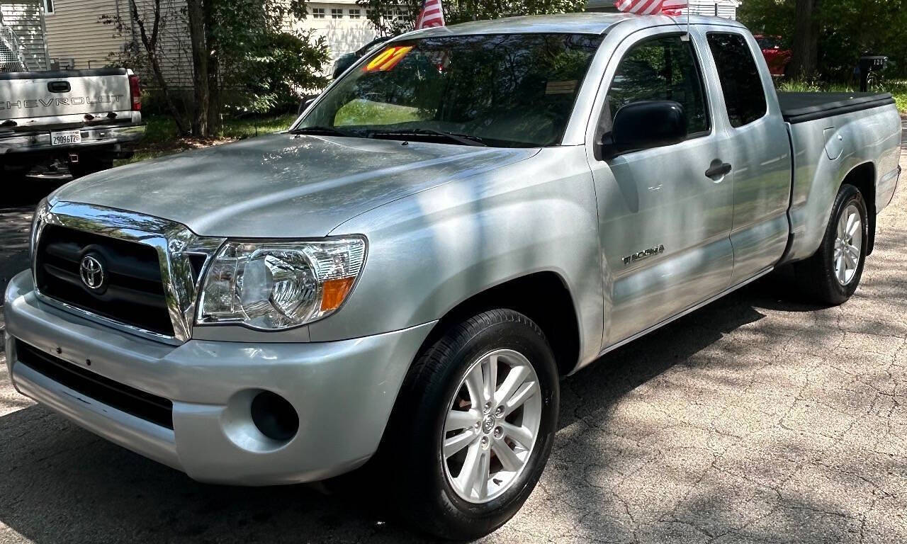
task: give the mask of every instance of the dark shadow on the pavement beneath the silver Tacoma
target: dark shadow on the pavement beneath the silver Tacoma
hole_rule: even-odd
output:
[[[754,305],[763,298],[763,283],[566,378],[561,385],[560,428],[582,414],[607,412],[639,384],[684,364],[727,332],[764,317]],[[555,450],[559,444],[563,445],[560,437]],[[373,508],[381,506],[381,494],[373,490],[326,496],[305,486],[201,484],[37,405],[0,417],[0,459],[5,471],[0,479],[0,522],[39,544],[424,541],[423,535]],[[546,473],[552,470],[556,469],[549,467]]]

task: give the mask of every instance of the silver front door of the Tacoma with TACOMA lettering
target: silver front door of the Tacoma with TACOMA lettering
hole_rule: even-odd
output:
[[[587,131],[606,270],[605,347],[717,295],[731,280],[733,171],[714,168],[730,157],[727,127],[708,92],[717,84],[703,77],[708,47],[683,34],[654,28],[619,45],[593,110],[599,121]],[[686,141],[600,158],[597,144],[619,108],[651,100],[684,107]]]

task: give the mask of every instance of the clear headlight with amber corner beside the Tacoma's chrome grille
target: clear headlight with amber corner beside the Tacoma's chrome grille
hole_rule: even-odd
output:
[[[199,323],[276,330],[329,316],[366,260],[366,240],[228,241],[211,262]]]

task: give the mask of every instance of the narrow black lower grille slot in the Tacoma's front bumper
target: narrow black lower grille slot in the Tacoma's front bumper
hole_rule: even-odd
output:
[[[161,427],[173,428],[173,403],[163,397],[145,393],[129,385],[94,374],[90,370],[63,361],[54,355],[45,354],[21,340],[16,340],[15,352],[19,364],[24,364],[34,372],[44,374],[58,384],[121,412],[132,414],[145,421],[161,425]]]

